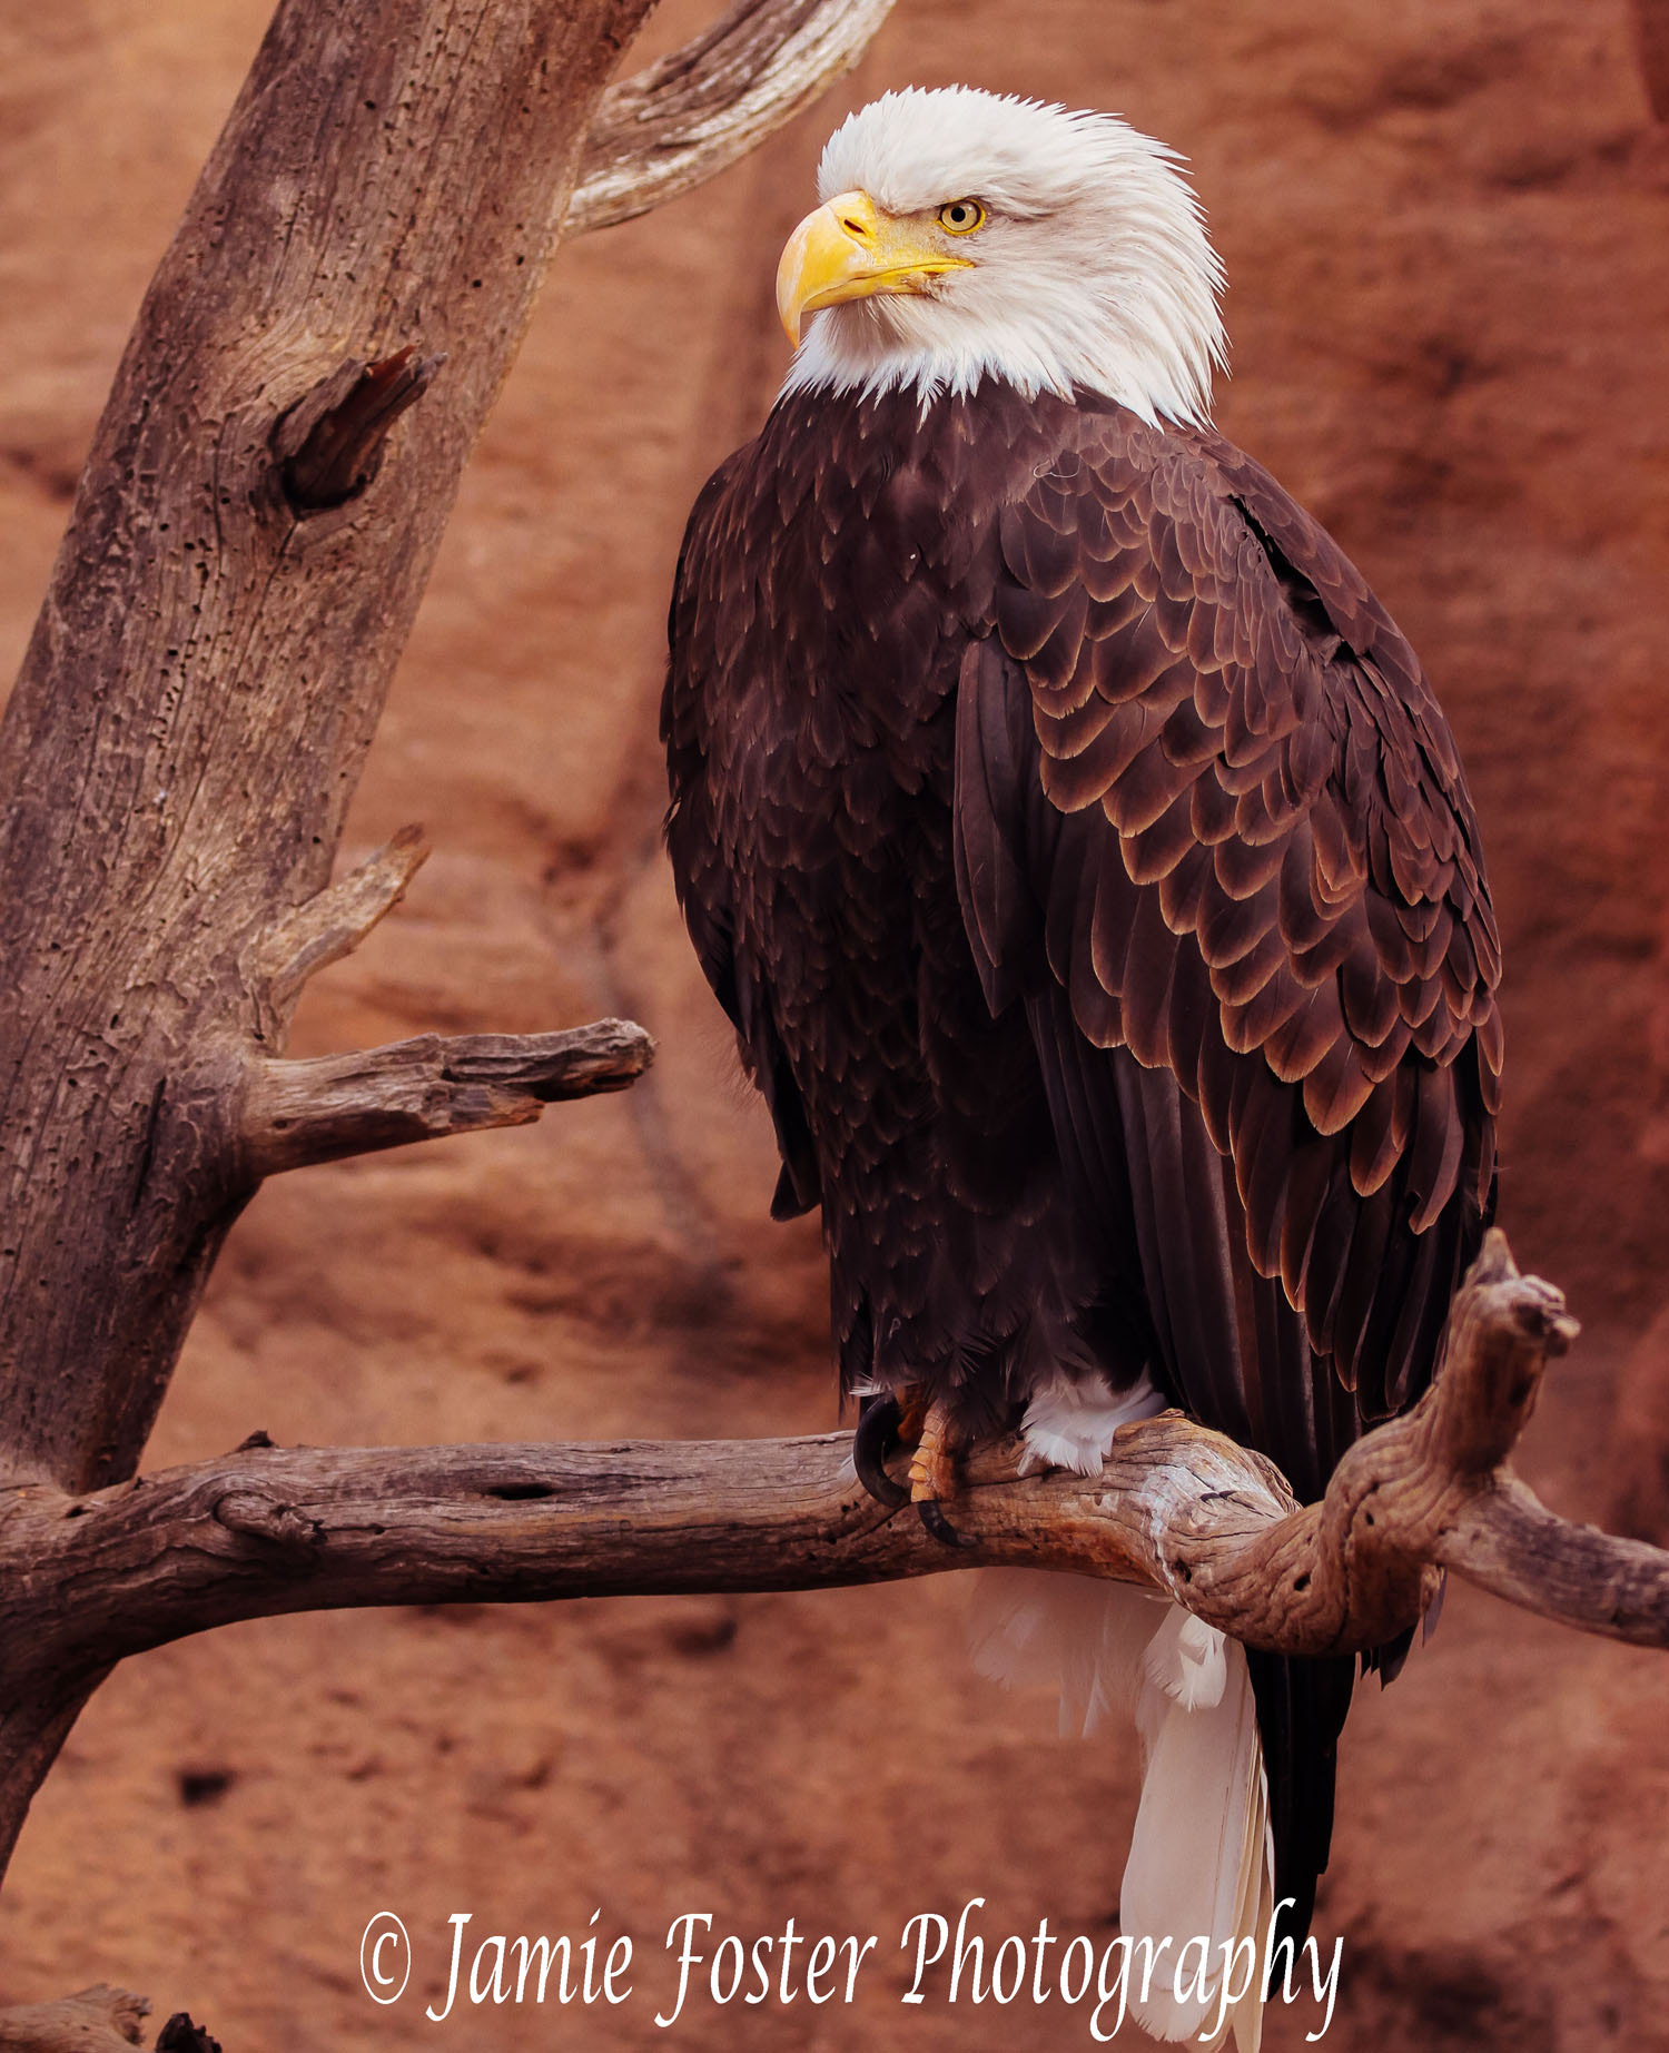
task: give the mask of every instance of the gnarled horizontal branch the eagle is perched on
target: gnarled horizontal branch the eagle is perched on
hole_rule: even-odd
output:
[[[0,1560],[0,1683],[60,1686],[187,1632],[372,1603],[819,1589],[981,1564],[1143,1583],[1236,1638],[1295,1655],[1377,1647],[1441,1566],[1589,1632],[1669,1647],[1669,1554],[1556,1519],[1490,1458],[1575,1324],[1490,1236],[1449,1365],[1369,1433],[1320,1505],[1256,1454],[1164,1412],[1100,1476],[975,1456],[961,1548],[858,1486],[842,1433],[591,1447],[263,1447],[66,1499],[16,1493]]]

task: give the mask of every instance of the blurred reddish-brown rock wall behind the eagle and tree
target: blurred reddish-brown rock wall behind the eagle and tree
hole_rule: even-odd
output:
[[[0,12],[0,673],[150,269],[265,0]],[[649,49],[704,16],[675,0]],[[1669,1538],[1669,138],[1626,0],[899,0],[856,78],[714,185],[567,248],[487,429],[345,860],[437,854],[310,992],[298,1053],[628,1012],[622,1098],[312,1170],[236,1228],[152,1464],[279,1441],[833,1423],[815,1228],[659,852],[688,505],[770,404],[770,281],[823,135],[893,84],[1115,107],[1178,150],[1230,275],[1219,423],[1361,563],[1453,721],[1507,944],[1503,1222],[1585,1322],[1527,1445],[1560,1511]],[[1028,2002],[899,2008],[903,1922],[1113,1934],[1131,1747],[963,1657],[959,1577],[807,1597],[240,1626],[121,1669],[35,1805],[0,2002],[94,1979],[228,2053],[659,2043],[669,1922],[877,1934],[854,2010],[700,2000],[692,2047],[1088,2043]],[[1345,1735],[1318,1928],[1332,2043],[1669,2047],[1661,1659],[1464,1589]],[[417,1944],[359,1985],[367,1918]],[[618,2010],[454,2012],[472,1936],[638,1940]],[[421,1991],[421,1993],[419,1993]],[[1312,2006],[1267,2045],[1304,2043]],[[1125,2039],[1133,2032],[1127,2028]]]

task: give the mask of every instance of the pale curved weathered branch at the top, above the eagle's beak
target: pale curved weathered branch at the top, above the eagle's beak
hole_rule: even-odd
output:
[[[565,234],[688,193],[850,72],[893,0],[739,0],[712,29],[612,86],[591,123]]]

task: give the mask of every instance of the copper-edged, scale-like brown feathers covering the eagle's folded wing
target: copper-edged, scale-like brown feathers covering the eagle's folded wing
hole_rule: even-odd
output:
[[[1495,1174],[1501,948],[1453,739],[1250,458],[1092,409],[1072,458],[1002,513],[973,680],[1022,680],[1037,788],[1086,819],[1065,877],[1031,829],[1047,961],[1090,1041],[1172,1070],[1258,1275],[1384,1417],[1431,1373]],[[1010,864],[977,948],[1020,944],[1016,903]]]

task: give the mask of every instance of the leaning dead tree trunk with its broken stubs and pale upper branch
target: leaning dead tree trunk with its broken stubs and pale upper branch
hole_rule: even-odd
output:
[[[743,0],[604,99],[651,6],[279,0],[146,294],[0,727],[8,1527],[133,1472],[263,1176],[521,1123],[651,1055],[604,1020],[283,1057],[306,979],[425,854],[406,829],[328,883],[575,181],[571,228],[682,191],[885,14]],[[0,1868],[101,1673],[0,1686]]]

